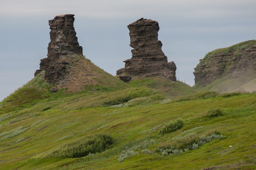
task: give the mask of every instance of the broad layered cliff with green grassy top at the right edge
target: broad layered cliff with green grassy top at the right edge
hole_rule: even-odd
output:
[[[229,76],[232,79],[245,76],[248,71],[256,71],[256,41],[245,41],[228,48],[216,49],[200,59],[195,68],[195,85],[205,86],[212,81]],[[250,74],[250,81],[256,75]],[[246,82],[244,82],[246,83]]]

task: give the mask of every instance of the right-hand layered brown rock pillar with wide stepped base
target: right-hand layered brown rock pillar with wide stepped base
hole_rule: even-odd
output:
[[[165,77],[176,81],[174,62],[167,62],[162,51],[162,42],[158,40],[158,22],[151,19],[139,19],[128,25],[132,58],[125,60],[125,67],[116,71],[124,82],[140,77]]]

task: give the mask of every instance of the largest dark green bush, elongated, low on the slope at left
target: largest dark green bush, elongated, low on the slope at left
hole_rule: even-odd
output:
[[[58,149],[47,154],[45,158],[80,158],[89,153],[103,152],[113,144],[113,138],[105,134],[97,134],[80,138],[60,146]]]

